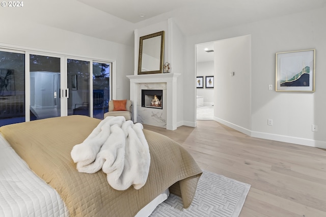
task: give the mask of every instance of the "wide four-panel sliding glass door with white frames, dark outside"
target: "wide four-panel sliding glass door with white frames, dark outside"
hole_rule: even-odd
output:
[[[105,61],[0,48],[0,126],[66,115],[103,119],[111,71]]]

